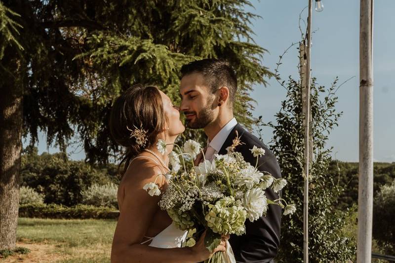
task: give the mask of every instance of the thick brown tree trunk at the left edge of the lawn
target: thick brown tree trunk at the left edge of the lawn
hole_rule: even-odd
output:
[[[15,38],[20,27],[13,20],[16,17],[0,2],[0,250],[9,248],[9,244],[15,246],[18,217],[25,74],[19,56],[22,47]]]

